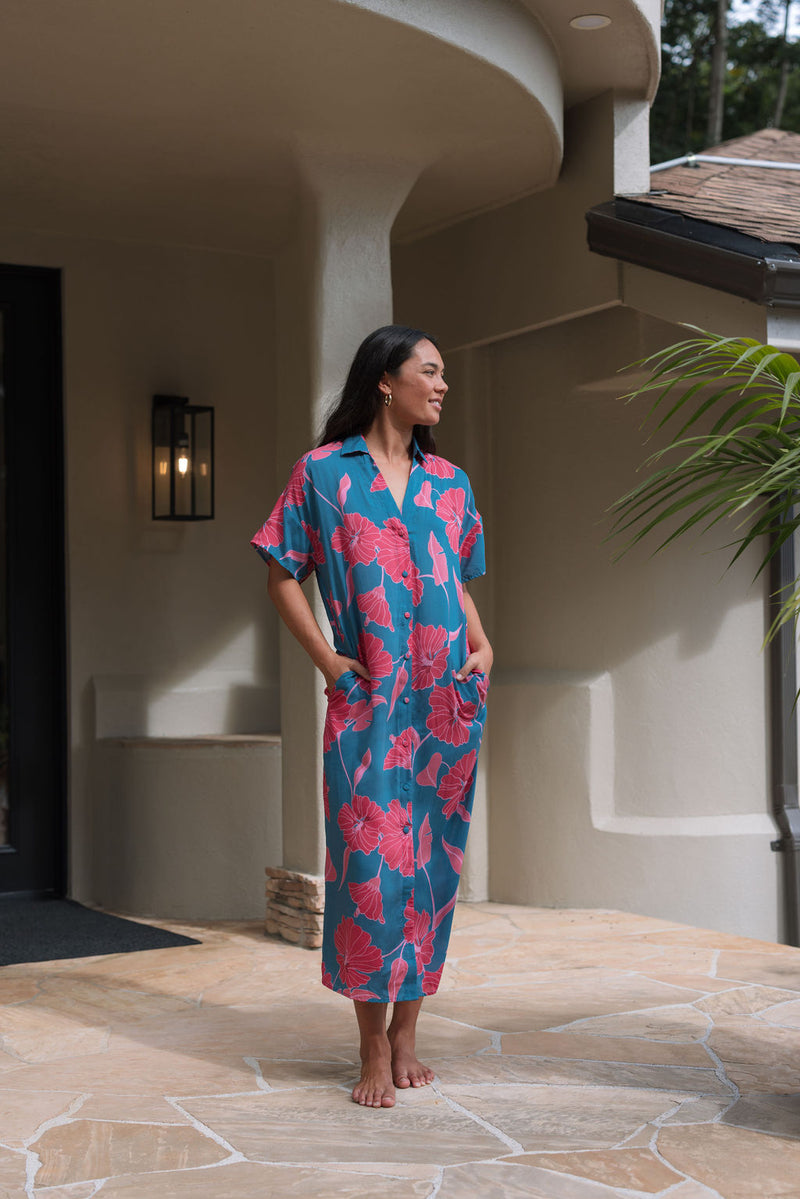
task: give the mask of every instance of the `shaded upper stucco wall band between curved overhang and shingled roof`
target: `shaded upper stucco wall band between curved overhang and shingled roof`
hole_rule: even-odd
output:
[[[585,227],[614,193],[614,106],[606,92],[566,114],[554,187],[397,245],[396,317],[452,350],[618,303],[618,265],[589,252]]]

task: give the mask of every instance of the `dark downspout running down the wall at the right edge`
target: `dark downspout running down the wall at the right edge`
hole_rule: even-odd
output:
[[[770,622],[787,588],[795,585],[794,536],[770,559]],[[770,643],[772,815],[780,837],[772,850],[783,855],[783,940],[800,946],[800,806],[798,791],[796,631],[781,626]]]

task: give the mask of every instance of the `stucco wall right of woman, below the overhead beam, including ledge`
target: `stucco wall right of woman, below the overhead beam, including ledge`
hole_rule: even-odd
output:
[[[678,337],[615,309],[488,351],[489,888],[772,939],[758,554],[726,572],[724,530],[616,564],[603,542],[645,454],[614,372]]]

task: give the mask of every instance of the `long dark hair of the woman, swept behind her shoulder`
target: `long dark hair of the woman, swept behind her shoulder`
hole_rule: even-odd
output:
[[[383,325],[365,337],[355,351],[342,394],[327,414],[323,435],[317,444],[324,446],[329,441],[343,441],[354,434],[366,433],[375,418],[378,405],[383,403],[378,384],[385,373],[396,374],[407,359],[410,359],[417,342],[422,341],[432,342],[439,349],[437,339],[429,333],[407,325]],[[423,453],[437,452],[429,426],[415,424],[414,436]]]

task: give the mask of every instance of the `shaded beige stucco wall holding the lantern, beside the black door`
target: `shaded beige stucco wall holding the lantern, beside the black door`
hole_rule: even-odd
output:
[[[0,261],[64,272],[70,893],[102,902],[95,827],[114,824],[120,789],[108,770],[95,776],[97,737],[277,729],[277,622],[247,546],[276,492],[272,275],[234,254],[4,230]],[[215,406],[212,522],[151,520],[154,392]],[[193,819],[193,771],[173,781],[166,826],[175,807]],[[279,788],[231,797],[218,785],[221,805],[251,806],[255,829],[266,805],[276,845],[263,858],[278,857]],[[136,823],[126,829],[131,844]],[[125,874],[126,842],[114,844],[106,867]],[[155,858],[138,852],[136,866],[139,892],[148,869],[155,886]]]

